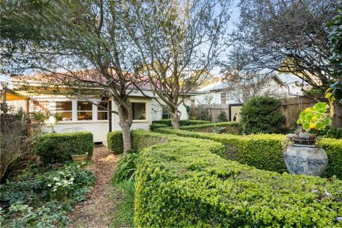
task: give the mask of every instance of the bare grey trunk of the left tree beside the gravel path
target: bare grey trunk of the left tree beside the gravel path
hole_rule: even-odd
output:
[[[131,107],[131,103],[128,101],[129,107]],[[132,149],[132,140],[131,140],[131,125],[133,123],[133,112],[132,108],[127,110],[122,105],[117,104],[118,113],[119,113],[119,125],[122,130],[122,141],[124,144],[124,153],[127,153],[130,149]]]

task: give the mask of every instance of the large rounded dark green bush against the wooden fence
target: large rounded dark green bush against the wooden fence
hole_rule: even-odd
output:
[[[241,107],[241,124],[246,134],[280,133],[284,121],[280,101],[272,97],[252,97]]]

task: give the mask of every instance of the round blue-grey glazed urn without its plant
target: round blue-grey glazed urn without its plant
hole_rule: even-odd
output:
[[[326,151],[315,145],[293,144],[284,152],[287,170],[291,174],[321,176],[328,166]]]

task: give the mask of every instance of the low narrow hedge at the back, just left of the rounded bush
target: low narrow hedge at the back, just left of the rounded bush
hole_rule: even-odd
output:
[[[212,132],[213,127],[224,127],[226,134],[241,134],[241,124],[237,122],[223,122],[223,123],[205,123],[202,125],[189,125],[181,127],[182,130]]]

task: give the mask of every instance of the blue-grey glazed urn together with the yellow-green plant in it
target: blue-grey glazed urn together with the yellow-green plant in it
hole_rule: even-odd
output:
[[[332,105],[331,105],[332,106]],[[306,174],[321,176],[328,165],[326,151],[317,146],[319,131],[331,126],[331,108],[319,102],[300,113],[295,134],[287,134],[288,144],[284,152],[285,164],[291,174]]]

